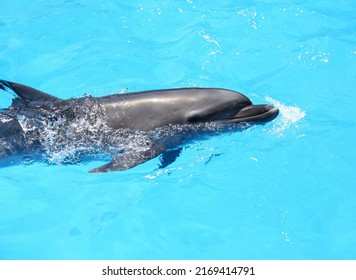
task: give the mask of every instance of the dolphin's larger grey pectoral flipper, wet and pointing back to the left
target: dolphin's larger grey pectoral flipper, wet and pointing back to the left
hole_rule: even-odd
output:
[[[161,145],[153,145],[149,149],[120,154],[107,164],[90,170],[90,173],[106,173],[111,171],[123,171],[149,161],[166,150]]]

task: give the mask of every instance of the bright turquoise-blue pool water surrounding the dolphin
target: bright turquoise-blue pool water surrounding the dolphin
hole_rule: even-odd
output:
[[[354,1],[118,2],[1,1],[0,78],[61,98],[224,87],[281,114],[161,170],[2,166],[0,258],[355,259]]]

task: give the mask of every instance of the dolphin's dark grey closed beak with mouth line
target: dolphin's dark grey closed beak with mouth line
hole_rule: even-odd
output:
[[[240,123],[259,123],[269,122],[279,114],[279,109],[272,105],[249,105],[242,108],[228,122]]]

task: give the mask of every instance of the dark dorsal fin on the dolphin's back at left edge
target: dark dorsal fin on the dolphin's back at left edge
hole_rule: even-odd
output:
[[[4,81],[4,80],[0,80],[0,89],[2,89],[2,90],[10,89],[14,93],[16,93],[16,95],[20,99],[25,99],[25,101],[27,101],[27,102],[32,102],[32,101],[54,102],[54,101],[61,100],[61,99],[54,97],[48,93],[31,88],[29,86],[25,86],[25,85],[13,83],[13,82],[8,82],[8,81]]]

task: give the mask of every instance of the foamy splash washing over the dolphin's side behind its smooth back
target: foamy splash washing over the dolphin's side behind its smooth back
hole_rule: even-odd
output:
[[[94,99],[88,97],[82,102],[85,106],[71,107],[72,114],[55,112],[42,119],[39,141],[48,163],[75,164],[84,157],[114,157],[151,143],[146,133],[108,127],[103,108]]]

